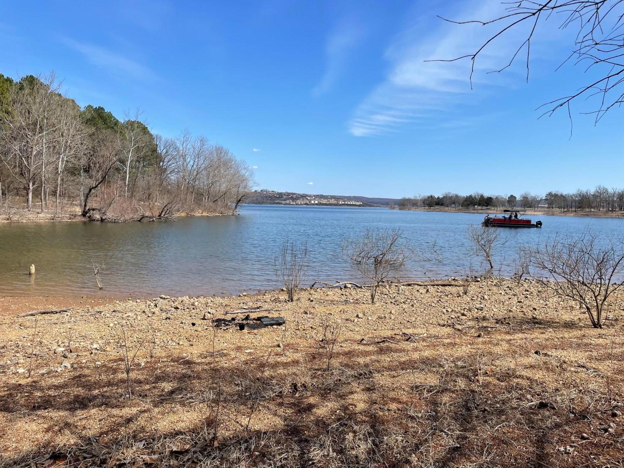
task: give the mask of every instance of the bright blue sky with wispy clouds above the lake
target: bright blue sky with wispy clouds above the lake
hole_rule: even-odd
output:
[[[433,4],[433,5],[432,5]],[[439,5],[437,5],[439,4]],[[570,32],[555,19],[502,74],[517,33],[478,62],[493,0],[0,2],[0,72],[54,70],[80,105],[139,107],[153,132],[185,129],[232,149],[258,188],[402,197],[446,190],[622,187],[622,113],[590,103],[537,119],[540,104],[592,76],[555,68]],[[512,53],[512,52],[511,52]],[[312,184],[310,184],[312,182]]]

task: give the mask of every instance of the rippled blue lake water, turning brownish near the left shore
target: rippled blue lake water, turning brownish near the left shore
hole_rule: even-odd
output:
[[[341,241],[366,228],[399,227],[417,248],[436,241],[441,262],[412,260],[407,278],[443,278],[484,270],[470,255],[466,228],[483,215],[403,212],[385,208],[247,205],[240,215],[178,218],[175,223],[0,224],[0,294],[106,295],[119,297],[235,294],[272,289],[274,259],[283,240],[308,243],[313,280],[359,280],[340,259]],[[532,217],[542,229],[501,229],[507,244],[494,255],[495,270],[512,274],[519,245],[544,242],[557,232],[590,228],[624,235],[624,220],[590,217]],[[99,292],[92,261],[104,263]],[[36,275],[27,275],[36,265]]]

